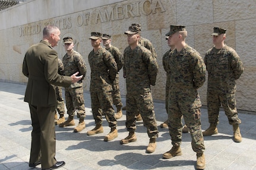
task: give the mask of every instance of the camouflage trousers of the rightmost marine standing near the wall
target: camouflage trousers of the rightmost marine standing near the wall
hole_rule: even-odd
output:
[[[235,91],[229,94],[219,94],[216,91],[207,91],[208,121],[212,124],[219,123],[220,106],[224,108],[229,124],[240,124],[236,110]]]

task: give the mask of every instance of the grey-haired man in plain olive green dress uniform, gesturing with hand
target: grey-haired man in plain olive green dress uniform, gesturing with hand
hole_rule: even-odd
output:
[[[60,40],[61,31],[54,25],[43,28],[43,40],[31,46],[23,60],[23,74],[29,78],[24,101],[29,102],[33,130],[29,166],[42,163],[42,169],[57,169],[65,165],[55,159],[56,137],[54,115],[55,86],[69,86],[82,76],[58,74],[58,54],[53,49]]]

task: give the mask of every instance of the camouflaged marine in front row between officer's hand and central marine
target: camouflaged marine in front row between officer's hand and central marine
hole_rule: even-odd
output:
[[[102,34],[92,32],[90,40],[91,46],[93,46],[93,50],[88,56],[91,68],[91,110],[96,127],[87,131],[87,135],[103,133],[101,108],[111,128],[110,133],[104,137],[104,141],[107,142],[118,136],[117,121],[112,106],[112,84],[115,81],[118,68],[112,54],[100,46]]]

